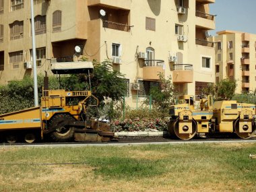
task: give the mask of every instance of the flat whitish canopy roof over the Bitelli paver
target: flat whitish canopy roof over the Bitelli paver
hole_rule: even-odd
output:
[[[57,62],[51,64],[51,71],[54,74],[76,74],[76,73],[90,73],[93,71],[94,65],[91,61],[77,61],[77,62]]]

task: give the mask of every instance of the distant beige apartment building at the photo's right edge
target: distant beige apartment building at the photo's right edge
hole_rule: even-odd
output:
[[[255,91],[256,34],[224,30],[214,36],[216,42],[216,83],[236,79],[236,93]]]

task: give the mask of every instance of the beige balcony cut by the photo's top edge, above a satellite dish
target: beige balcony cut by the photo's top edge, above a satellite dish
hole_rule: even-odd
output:
[[[131,9],[131,1],[127,0],[88,0],[88,6],[100,6],[115,9]]]

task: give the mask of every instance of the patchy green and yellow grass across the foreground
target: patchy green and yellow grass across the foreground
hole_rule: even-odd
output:
[[[256,191],[249,154],[256,143],[0,147],[0,191]]]

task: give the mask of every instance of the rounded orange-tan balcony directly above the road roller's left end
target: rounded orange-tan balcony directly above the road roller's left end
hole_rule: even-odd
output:
[[[193,82],[193,65],[176,64],[172,68],[173,83],[192,83]]]

